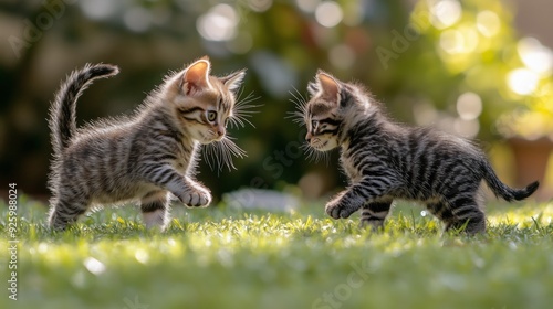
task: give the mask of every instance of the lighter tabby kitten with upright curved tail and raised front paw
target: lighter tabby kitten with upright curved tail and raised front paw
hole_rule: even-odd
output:
[[[91,205],[138,201],[147,227],[164,230],[170,194],[187,206],[207,206],[209,189],[192,178],[199,145],[219,142],[220,160],[242,150],[226,137],[227,120],[240,122],[234,92],[244,71],[209,75],[207,57],[166,77],[134,116],[77,129],[75,104],[96,78],[116,66],[86,65],[62,84],[50,110],[54,160],[50,226],[64,230]],[[226,161],[230,163],[230,161]]]

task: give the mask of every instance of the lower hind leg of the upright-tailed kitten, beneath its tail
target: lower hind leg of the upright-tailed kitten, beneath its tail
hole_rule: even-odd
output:
[[[88,201],[79,198],[59,198],[50,209],[50,228],[64,231],[88,209]]]

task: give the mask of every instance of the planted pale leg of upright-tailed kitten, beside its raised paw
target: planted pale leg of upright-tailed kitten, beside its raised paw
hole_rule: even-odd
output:
[[[166,191],[154,191],[140,200],[144,224],[147,228],[165,231],[169,223],[169,195]]]

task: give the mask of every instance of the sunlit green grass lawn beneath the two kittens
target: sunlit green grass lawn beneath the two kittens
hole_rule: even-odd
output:
[[[8,210],[0,202],[0,308],[552,308],[553,203],[498,204],[477,237],[441,235],[419,207],[383,233],[295,213],[174,207],[166,233],[136,207],[106,209],[64,233],[19,204],[18,300],[8,298]]]

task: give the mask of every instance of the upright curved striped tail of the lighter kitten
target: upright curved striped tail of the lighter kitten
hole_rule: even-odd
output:
[[[75,106],[84,89],[94,79],[113,76],[119,73],[117,66],[109,64],[86,64],[75,70],[62,84],[50,108],[49,126],[52,131],[54,153],[60,154],[70,145],[76,130]]]

